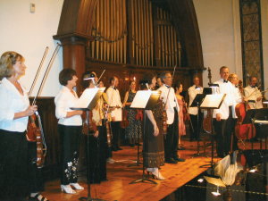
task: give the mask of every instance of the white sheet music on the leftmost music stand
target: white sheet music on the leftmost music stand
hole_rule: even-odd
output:
[[[104,92],[105,88],[86,88],[74,107],[87,108],[98,91]]]

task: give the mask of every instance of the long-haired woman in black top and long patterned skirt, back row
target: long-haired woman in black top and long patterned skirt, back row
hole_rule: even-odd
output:
[[[126,128],[126,135],[129,139],[130,147],[138,145],[138,138],[141,138],[141,122],[138,119],[138,111],[131,109],[130,105],[136,95],[136,82],[135,80],[130,83],[130,90],[126,92],[122,107],[127,110],[127,121],[129,126]]]

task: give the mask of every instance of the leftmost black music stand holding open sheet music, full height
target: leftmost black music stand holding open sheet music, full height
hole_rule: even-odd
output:
[[[86,119],[88,121],[89,125],[89,111],[92,111],[93,108],[96,106],[96,103],[100,96],[104,93],[105,88],[87,88],[84,90],[83,94],[80,96],[80,99],[78,100],[77,104],[74,107],[70,107],[71,110],[81,110],[86,112]],[[79,200],[86,200],[86,201],[101,201],[103,199],[98,198],[92,198],[90,193],[90,175],[89,175],[89,131],[87,129],[87,178],[88,178],[88,197],[80,197]]]

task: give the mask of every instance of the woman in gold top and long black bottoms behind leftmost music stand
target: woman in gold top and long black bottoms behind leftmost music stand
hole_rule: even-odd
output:
[[[87,78],[87,80],[85,80]],[[83,87],[96,88],[96,73],[85,72],[83,74]],[[99,98],[96,106],[89,111],[89,181],[90,183],[100,183],[106,178],[106,158],[107,158],[107,134],[105,127],[105,99]]]

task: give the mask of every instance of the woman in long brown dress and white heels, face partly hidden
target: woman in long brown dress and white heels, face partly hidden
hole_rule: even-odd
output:
[[[140,81],[140,89],[155,88],[156,77],[147,72]],[[148,88],[147,88],[148,87]],[[163,103],[159,100],[153,110],[146,110],[146,128],[144,133],[144,165],[148,174],[157,180],[164,180],[159,167],[164,164],[163,151]]]

